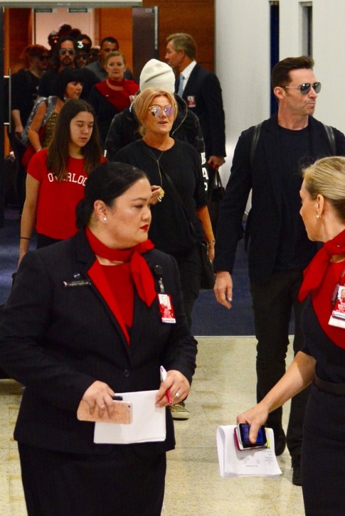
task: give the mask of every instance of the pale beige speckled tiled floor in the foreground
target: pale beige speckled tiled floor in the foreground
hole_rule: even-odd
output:
[[[255,339],[198,341],[198,367],[187,403],[190,419],[175,422],[177,447],[168,453],[162,516],[304,515],[301,488],[291,484],[287,451],[279,457],[283,472],[279,477],[219,476],[217,426],[235,424],[237,413],[255,403]],[[17,446],[12,439],[20,397],[19,384],[0,381],[0,516],[26,516]],[[287,415],[288,406],[285,428]]]

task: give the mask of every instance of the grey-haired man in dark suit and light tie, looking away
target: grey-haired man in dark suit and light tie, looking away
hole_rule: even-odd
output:
[[[211,169],[217,169],[226,156],[225,118],[219,80],[213,72],[195,61],[197,45],[189,34],[171,34],[166,43],[165,59],[177,74],[175,92],[199,118],[206,161]],[[209,174],[209,177],[211,181],[213,174]]]

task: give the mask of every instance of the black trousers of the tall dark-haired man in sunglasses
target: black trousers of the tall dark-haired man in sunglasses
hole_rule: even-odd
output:
[[[304,339],[300,329],[303,305],[297,295],[302,284],[302,271],[276,272],[264,284],[250,282],[253,298],[255,336],[257,338],[257,401],[272,389],[286,370],[288,327],[292,310],[295,313],[293,351],[302,348]],[[301,455],[304,413],[309,389],[291,400],[286,443],[291,457]],[[267,426],[282,425],[282,408],[268,416]]]

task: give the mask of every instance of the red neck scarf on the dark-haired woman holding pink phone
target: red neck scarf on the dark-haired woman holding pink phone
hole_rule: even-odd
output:
[[[130,262],[130,274],[139,298],[150,307],[156,297],[155,281],[150,267],[148,267],[145,258],[141,255],[155,247],[151,240],[146,240],[146,242],[137,244],[130,249],[111,249],[104,245],[88,227],[86,227],[86,236],[92,251],[97,256],[117,262]]]

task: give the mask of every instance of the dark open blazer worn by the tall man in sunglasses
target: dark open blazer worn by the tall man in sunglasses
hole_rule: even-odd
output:
[[[311,163],[318,158],[332,156],[331,143],[324,125],[313,116],[309,116],[308,124]],[[279,180],[282,174],[277,173],[281,167],[277,115],[262,123],[251,169],[250,145],[254,127],[242,132],[235,148],[226,194],[219,210],[214,266],[216,271],[233,271],[239,228],[252,189],[252,207],[246,224],[249,277],[262,283],[268,280],[275,266],[282,222],[282,185]],[[337,154],[345,156],[345,136],[336,129],[334,134]],[[303,225],[302,218],[300,223]],[[306,234],[303,245],[305,264],[302,269],[317,250],[316,243],[308,240]]]

